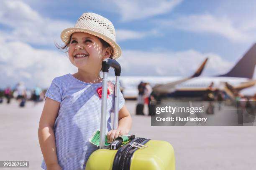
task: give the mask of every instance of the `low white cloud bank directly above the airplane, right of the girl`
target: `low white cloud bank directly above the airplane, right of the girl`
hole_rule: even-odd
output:
[[[195,50],[179,52],[124,50],[118,60],[123,67],[123,75],[188,76],[195,72],[206,57],[209,57],[209,60],[203,75],[225,73],[233,65],[219,55]]]

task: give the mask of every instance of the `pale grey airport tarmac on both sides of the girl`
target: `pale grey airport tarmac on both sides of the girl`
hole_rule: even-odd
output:
[[[19,169],[41,170],[37,131],[43,105],[0,104],[0,161],[29,161],[29,168]],[[171,143],[177,170],[256,168],[256,126],[151,126],[151,117],[134,115],[136,101],[126,101],[126,106],[133,118],[130,133]]]

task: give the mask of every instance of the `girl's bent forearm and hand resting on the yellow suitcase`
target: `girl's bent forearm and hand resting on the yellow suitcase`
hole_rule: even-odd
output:
[[[108,143],[112,143],[115,138],[128,134],[131,129],[132,118],[124,105],[118,112],[118,128],[108,132]]]

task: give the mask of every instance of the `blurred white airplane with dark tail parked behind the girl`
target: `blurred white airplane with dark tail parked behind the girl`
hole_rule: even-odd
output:
[[[207,60],[208,58],[204,60],[194,75],[185,78],[121,76],[120,83],[123,86],[123,96],[126,99],[136,99],[138,96],[137,87],[141,81],[149,82],[155,94],[169,97],[202,97],[211,83],[213,83],[213,89],[225,90],[226,92],[230,91],[227,89],[227,85],[239,92],[256,84],[256,80],[253,80],[256,65],[256,43],[229,72],[223,75],[199,77]]]

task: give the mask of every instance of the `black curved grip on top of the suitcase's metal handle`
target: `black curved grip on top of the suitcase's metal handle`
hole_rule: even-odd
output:
[[[113,67],[115,70],[115,76],[121,75],[121,65],[119,62],[112,58],[108,58],[102,61],[102,72],[109,72],[109,68]]]

